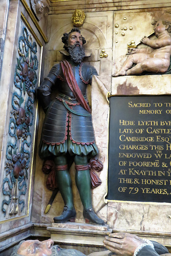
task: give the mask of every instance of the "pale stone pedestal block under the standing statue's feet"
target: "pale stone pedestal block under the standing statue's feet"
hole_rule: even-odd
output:
[[[104,237],[112,232],[108,225],[96,226],[71,222],[52,223],[47,230],[51,233],[51,239],[57,243],[89,246],[103,246]]]

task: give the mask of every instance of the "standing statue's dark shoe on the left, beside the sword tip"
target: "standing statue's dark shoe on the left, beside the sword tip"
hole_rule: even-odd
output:
[[[75,222],[75,217],[76,217],[76,211],[74,208],[71,210],[68,209],[68,206],[63,207],[62,214],[58,217],[53,218],[55,223],[62,223],[66,221],[71,221]]]

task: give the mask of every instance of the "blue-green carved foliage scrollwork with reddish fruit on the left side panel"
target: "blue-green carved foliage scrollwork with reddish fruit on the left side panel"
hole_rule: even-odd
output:
[[[23,211],[26,204],[27,182],[32,152],[34,131],[34,93],[38,69],[37,45],[26,27],[18,39],[18,57],[14,75],[14,86],[9,121],[9,139],[6,151],[3,180],[2,211],[6,216]]]

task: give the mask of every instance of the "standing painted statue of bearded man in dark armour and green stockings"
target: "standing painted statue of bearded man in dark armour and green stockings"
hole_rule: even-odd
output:
[[[92,125],[91,109],[86,98],[87,84],[93,75],[98,75],[94,67],[82,62],[85,56],[83,44],[86,40],[77,28],[63,34],[62,42],[68,53],[67,60],[55,65],[38,88],[39,101],[46,112],[42,127],[39,156],[52,157],[55,162],[56,181],[65,203],[63,212],[54,222],[75,221],[69,159],[73,159],[76,169],[76,185],[83,204],[86,221],[104,225],[92,208],[91,178],[88,161],[98,154]],[[51,101],[51,91],[58,94]]]

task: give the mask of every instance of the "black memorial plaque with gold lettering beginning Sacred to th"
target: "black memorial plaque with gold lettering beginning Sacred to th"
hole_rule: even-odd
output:
[[[171,202],[171,96],[113,96],[107,200]]]

